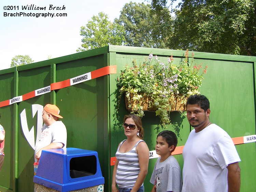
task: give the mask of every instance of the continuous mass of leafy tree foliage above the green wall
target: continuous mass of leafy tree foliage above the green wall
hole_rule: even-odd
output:
[[[181,0],[178,10],[176,0],[147,1],[126,3],[114,23],[93,16],[77,51],[114,44],[256,56],[256,0]]]

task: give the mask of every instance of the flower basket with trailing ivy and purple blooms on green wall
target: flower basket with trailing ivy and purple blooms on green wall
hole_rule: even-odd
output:
[[[171,122],[171,111],[186,110],[186,98],[200,94],[207,66],[202,68],[202,63],[194,63],[194,54],[189,58],[188,50],[184,55],[179,64],[173,64],[172,56],[162,62],[152,53],[144,62],[137,64],[133,60],[132,65],[126,64],[117,85],[120,86],[119,99],[125,93],[127,110],[139,117],[144,116],[144,111],[155,111],[162,125]]]

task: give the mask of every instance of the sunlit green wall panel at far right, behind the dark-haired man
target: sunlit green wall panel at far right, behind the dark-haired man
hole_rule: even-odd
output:
[[[230,137],[255,135],[253,64],[237,61],[200,60],[208,65],[201,88],[210,100],[210,120]],[[241,191],[256,188],[255,143],[236,146],[241,162]]]

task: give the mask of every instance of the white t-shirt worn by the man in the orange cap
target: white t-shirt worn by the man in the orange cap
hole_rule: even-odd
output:
[[[41,148],[51,143],[63,143],[63,148],[66,148],[67,129],[62,121],[56,121],[50,126],[46,124],[43,125],[40,138],[35,143],[35,154],[37,154]]]

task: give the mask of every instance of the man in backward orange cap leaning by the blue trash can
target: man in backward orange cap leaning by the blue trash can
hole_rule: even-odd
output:
[[[47,104],[43,110],[43,127],[40,138],[35,143],[35,158],[40,159],[42,150],[66,148],[67,129],[59,120],[59,108]]]

